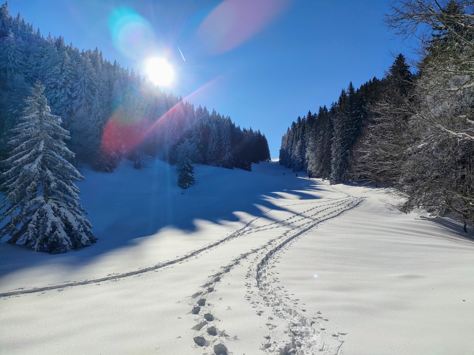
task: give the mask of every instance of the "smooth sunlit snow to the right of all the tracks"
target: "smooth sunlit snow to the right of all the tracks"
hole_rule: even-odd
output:
[[[288,293],[278,296],[320,311],[321,327],[345,340],[339,354],[471,354],[473,240],[391,211],[383,189],[337,188],[365,202],[282,250],[273,266]]]

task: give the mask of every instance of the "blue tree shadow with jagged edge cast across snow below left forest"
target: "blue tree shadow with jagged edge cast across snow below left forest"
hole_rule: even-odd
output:
[[[252,172],[210,166],[195,170],[196,184],[186,190],[176,186],[173,167],[159,160],[142,170],[133,169],[125,160],[114,173],[84,171],[86,180],[78,184],[81,203],[99,240],[91,247],[61,255],[0,243],[0,277],[49,264],[59,264],[66,273],[77,271],[115,249],[162,238],[156,233],[164,228],[196,231],[198,221],[222,225],[239,222],[247,213],[250,217],[246,220],[263,216],[276,222],[264,213],[292,211],[292,200],[322,198],[324,189],[314,180],[296,178],[278,162],[254,164]]]

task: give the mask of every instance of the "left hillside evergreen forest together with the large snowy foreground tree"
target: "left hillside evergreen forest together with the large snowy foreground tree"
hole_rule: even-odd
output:
[[[260,131],[194,108],[97,48],[45,38],[2,5],[0,238],[54,253],[91,245],[78,168],[112,172],[128,158],[141,169],[144,155],[176,165],[182,188],[195,183],[196,163],[251,170],[270,159]]]

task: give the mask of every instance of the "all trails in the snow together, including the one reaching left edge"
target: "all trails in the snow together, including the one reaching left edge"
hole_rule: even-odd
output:
[[[346,195],[346,197],[327,200],[324,201],[322,204],[319,203],[319,201],[303,203],[314,203],[318,205],[311,207],[310,209],[307,209],[301,213],[294,213],[292,216],[282,221],[276,221],[258,227],[251,227],[253,223],[255,223],[258,219],[264,217],[266,213],[273,211],[273,209],[270,209],[262,213],[261,216],[256,217],[251,221],[247,222],[242,228],[238,229],[237,231],[234,231],[233,233],[229,234],[221,240],[210,243],[202,248],[196,249],[182,257],[178,257],[169,261],[164,261],[163,263],[156,264],[154,266],[149,266],[118,275],[108,275],[97,279],[52,284],[29,289],[12,290],[0,293],[0,297],[44,292],[48,290],[62,289],[78,285],[95,284],[104,281],[111,281],[120,278],[125,278],[128,276],[138,275],[156,269],[160,269],[165,266],[172,266],[173,264],[177,264],[191,257],[197,256],[203,251],[218,247],[219,245],[237,237],[246,236],[248,234],[260,231],[267,231],[270,229],[288,227],[295,224],[294,227],[284,231],[278,237],[273,238],[272,240],[269,240],[258,248],[251,249],[250,251],[247,251],[246,253],[243,253],[236,259],[232,260],[229,265],[223,267],[222,271],[212,275],[210,281],[201,286],[201,291],[191,296],[191,298],[194,300],[192,302],[191,314],[198,315],[199,317],[197,320],[197,324],[192,327],[192,329],[197,332],[196,336],[193,337],[193,340],[196,346],[201,346],[206,349],[206,351],[212,351],[211,353],[206,352],[205,354],[228,355],[226,339],[228,339],[230,336],[224,331],[221,331],[217,328],[215,321],[216,319],[214,315],[211,313],[211,311],[207,310],[207,308],[209,308],[209,304],[206,302],[206,297],[207,295],[209,295],[209,293],[214,292],[214,287],[216,286],[216,284],[218,284],[221,281],[222,277],[224,277],[228,272],[230,272],[235,266],[239,265],[242,259],[246,259],[249,255],[260,252],[263,258],[256,258],[253,262],[250,263],[247,277],[252,276],[252,278],[255,280],[255,286],[257,288],[258,295],[260,297],[260,300],[263,300],[263,302],[257,303],[264,305],[266,311],[272,311],[273,315],[279,317],[280,319],[284,319],[288,324],[288,331],[291,334],[291,340],[288,341],[287,334],[272,333],[271,331],[274,327],[271,322],[267,323],[269,331],[271,332],[271,336],[265,337],[265,341],[262,343],[262,347],[260,349],[267,350],[271,348],[269,351],[276,352],[276,354],[282,355],[309,355],[316,354],[316,352],[318,352],[319,354],[320,352],[324,352],[325,354],[338,355],[341,346],[344,343],[344,340],[340,338],[340,335],[345,335],[345,333],[337,333],[336,331],[331,332],[327,328],[322,326],[319,320],[328,321],[328,319],[324,319],[323,317],[319,316],[320,312],[318,312],[317,315],[315,315],[314,317],[309,317],[307,315],[302,314],[306,310],[299,310],[294,307],[294,305],[297,304],[297,302],[295,302],[297,300],[291,300],[290,297],[285,297],[289,300],[285,301],[283,297],[278,294],[276,288],[272,286],[272,282],[269,279],[270,274],[268,272],[269,264],[275,260],[275,256],[277,255],[277,253],[283,248],[291,245],[292,241],[296,240],[298,237],[301,237],[301,235],[305,234],[307,231],[310,231],[319,223],[336,218],[341,214],[345,213],[346,211],[357,207],[365,200],[364,198],[357,198],[356,196],[350,195],[332,186],[328,187]],[[287,206],[292,205],[297,206],[300,204],[291,204]],[[305,213],[313,212],[314,210],[316,210],[314,213],[305,215]],[[297,217],[301,218],[298,219]],[[313,217],[316,218],[313,219]],[[296,225],[297,223],[306,219],[308,219],[307,222],[302,222],[300,225]],[[255,264],[257,264],[256,267]],[[249,285],[250,284],[248,284],[247,287],[251,287]],[[253,294],[254,292],[247,291],[247,293]],[[251,298],[251,296],[247,296],[248,301],[251,301]],[[291,302],[292,304],[290,305],[289,303]],[[253,307],[256,308],[257,306]],[[257,312],[258,315],[261,315],[262,313],[264,313],[264,311]],[[270,316],[269,319],[271,320],[273,319],[273,317]]]

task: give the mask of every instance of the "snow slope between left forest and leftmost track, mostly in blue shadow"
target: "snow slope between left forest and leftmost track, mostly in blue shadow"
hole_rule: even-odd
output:
[[[155,265],[219,240],[269,209],[288,209],[276,200],[320,197],[314,182],[294,178],[290,187],[294,174],[283,177],[278,163],[253,164],[252,172],[200,165],[196,184],[186,190],[160,160],[142,170],[132,164],[124,160],[114,173],[82,171],[81,203],[99,238],[92,247],[49,255],[0,243],[0,293]]]

